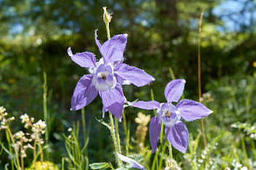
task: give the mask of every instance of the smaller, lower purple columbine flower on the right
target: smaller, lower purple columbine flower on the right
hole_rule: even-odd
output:
[[[180,152],[186,152],[188,144],[188,131],[184,120],[192,121],[210,115],[212,111],[197,101],[181,98],[185,80],[172,80],[165,87],[167,103],[157,101],[137,101],[129,103],[132,107],[140,109],[157,109],[157,117],[152,117],[149,124],[149,139],[152,153],[157,150],[157,142],[161,132],[161,122],[165,125],[167,140]],[[176,106],[172,102],[178,102]]]

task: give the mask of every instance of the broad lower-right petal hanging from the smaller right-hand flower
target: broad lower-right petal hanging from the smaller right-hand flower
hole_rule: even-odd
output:
[[[171,128],[165,127],[165,135],[176,150],[183,153],[187,151],[189,132],[184,123],[178,121]]]

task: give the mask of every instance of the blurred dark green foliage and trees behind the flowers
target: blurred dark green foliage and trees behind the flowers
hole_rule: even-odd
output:
[[[214,110],[206,118],[206,136],[211,139],[220,129],[223,133],[235,131],[230,127],[232,123],[255,123],[256,1],[0,0],[0,105],[15,117],[28,113],[42,119],[46,72],[51,160],[60,163],[66,154],[61,134],[67,134],[72,121],[80,120],[80,111],[69,111],[72,92],[79,78],[88,73],[71,61],[67,48],[72,47],[73,53],[89,51],[96,54],[97,60],[101,58],[94,43],[94,30],[98,29],[98,39],[105,42],[105,6],[113,12],[111,36],[128,34],[124,62],[156,78],[142,88],[124,85],[129,101],[150,100],[152,89],[154,98],[164,102],[164,88],[171,80],[170,68],[176,77],[187,80],[185,98],[198,100],[198,21],[204,11],[202,91],[210,98],[205,104]],[[95,120],[102,117],[100,98],[85,110],[90,129],[89,161],[114,161],[109,131]],[[139,111],[126,109],[131,136],[135,134],[134,119]],[[153,115],[151,111],[143,113]],[[196,135],[200,120],[187,126]],[[17,131],[19,128],[15,126]],[[234,138],[230,137],[230,142]],[[225,147],[225,142],[223,139],[220,143]],[[2,160],[7,162],[8,158]]]

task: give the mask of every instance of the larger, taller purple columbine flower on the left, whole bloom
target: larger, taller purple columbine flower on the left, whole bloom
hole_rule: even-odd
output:
[[[121,120],[126,101],[121,85],[132,83],[140,87],[154,81],[154,77],[141,69],[122,63],[127,34],[113,36],[103,45],[97,39],[97,31],[94,38],[102,55],[98,62],[93,53],[83,52],[73,55],[71,48],[67,49],[72,61],[90,72],[78,81],[72,96],[71,109],[86,107],[99,93],[102,98],[103,115],[109,111]]]

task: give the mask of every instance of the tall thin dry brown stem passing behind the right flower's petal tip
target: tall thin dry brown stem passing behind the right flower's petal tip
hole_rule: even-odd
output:
[[[204,9],[203,9],[204,11]],[[201,12],[200,20],[199,20],[199,28],[198,28],[198,46],[197,46],[197,77],[198,77],[198,101],[201,101],[202,91],[201,91],[201,30],[202,30],[202,22],[203,22],[203,12]],[[206,132],[205,132],[205,126],[203,123],[203,118],[201,118],[201,126],[202,126],[202,134],[203,134],[203,144],[204,147],[207,145],[206,141]]]

